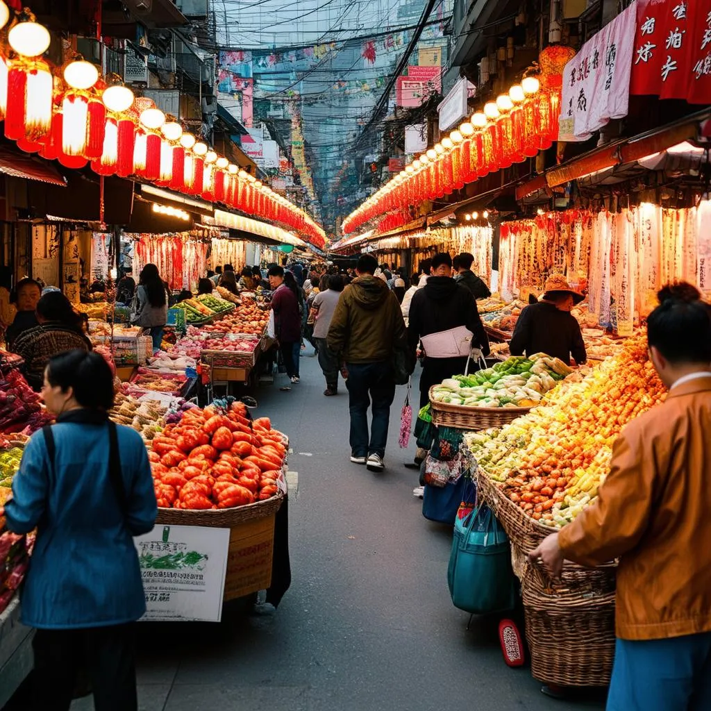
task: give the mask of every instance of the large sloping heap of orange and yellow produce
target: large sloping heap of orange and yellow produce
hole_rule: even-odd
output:
[[[629,338],[616,358],[579,382],[560,383],[528,415],[501,429],[468,432],[465,442],[510,501],[560,528],[596,498],[622,427],[664,395],[646,342]]]

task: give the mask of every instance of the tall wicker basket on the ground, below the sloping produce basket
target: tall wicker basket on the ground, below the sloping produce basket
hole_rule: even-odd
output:
[[[615,653],[614,593],[545,594],[523,587],[531,673],[560,686],[606,686]]]

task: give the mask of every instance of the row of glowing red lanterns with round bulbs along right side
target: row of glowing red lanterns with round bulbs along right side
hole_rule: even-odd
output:
[[[488,173],[533,158],[558,136],[560,81],[525,77],[508,95],[489,102],[343,221],[345,234],[385,213],[442,198]]]

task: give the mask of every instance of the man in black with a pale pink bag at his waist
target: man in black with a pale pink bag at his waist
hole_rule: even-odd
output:
[[[432,276],[427,284],[415,292],[410,305],[410,324],[407,339],[415,351],[419,339],[432,333],[449,331],[457,326],[465,326],[474,335],[472,348],[481,348],[483,355],[489,354],[488,338],[484,331],[476,301],[469,289],[457,284],[451,278],[451,257],[447,252],[432,258]],[[464,373],[466,355],[434,357],[425,350],[422,376],[419,379],[419,406],[429,402],[429,388],[442,383],[444,378]],[[475,366],[476,368],[476,366]],[[472,368],[474,370],[475,368]]]

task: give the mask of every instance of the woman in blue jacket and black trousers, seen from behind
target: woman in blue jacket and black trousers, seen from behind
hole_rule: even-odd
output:
[[[146,447],[109,422],[101,355],[56,355],[42,394],[57,424],[27,443],[5,506],[9,530],[37,528],[21,597],[22,621],[37,629],[33,708],[68,710],[82,668],[96,711],[135,711],[133,623],[146,603],[133,536],[157,513]]]

